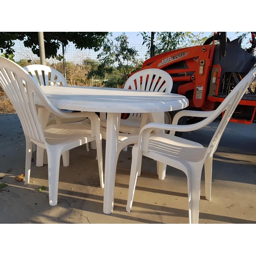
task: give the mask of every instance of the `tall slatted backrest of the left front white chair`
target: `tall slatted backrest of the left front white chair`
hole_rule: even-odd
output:
[[[51,104],[42,92],[37,80],[15,62],[0,57],[0,86],[16,110],[24,135],[32,141],[45,143],[45,136],[34,103],[34,95],[53,114],[58,114],[60,111]]]

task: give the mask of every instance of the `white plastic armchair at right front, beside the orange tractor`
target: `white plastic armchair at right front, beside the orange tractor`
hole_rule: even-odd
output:
[[[220,104],[218,109],[210,112],[198,111],[180,111],[173,120],[173,124],[149,123],[146,124],[140,132],[139,143],[133,147],[132,167],[129,184],[129,195],[126,210],[131,211],[135,186],[138,173],[141,170],[142,155],[173,166],[182,170],[187,176],[188,185],[188,215],[189,223],[198,223],[199,221],[199,199],[201,173],[204,165],[205,172],[205,197],[210,200],[211,197],[211,174],[212,157],[217,149],[225,127],[236,109],[239,101],[247,88],[255,79],[256,68],[249,72]],[[214,121],[225,111],[220,124],[212,137],[208,147],[174,136],[176,131],[190,132],[205,127]],[[204,120],[189,125],[177,125],[182,116],[206,117]],[[170,134],[160,133],[152,134],[154,129],[169,130]],[[159,177],[164,179],[165,170]]]

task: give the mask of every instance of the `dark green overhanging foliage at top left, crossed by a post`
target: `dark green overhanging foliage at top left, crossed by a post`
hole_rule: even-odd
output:
[[[76,49],[94,49],[98,51],[109,32],[44,32],[46,58],[59,57],[57,50],[66,47],[69,42],[73,42]],[[38,32],[0,32],[0,50],[3,53],[14,54],[13,46],[15,40],[24,41],[24,46],[31,48],[38,57],[39,42]]]

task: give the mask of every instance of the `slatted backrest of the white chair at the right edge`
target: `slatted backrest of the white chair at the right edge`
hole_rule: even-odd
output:
[[[219,107],[214,112],[212,112],[212,115],[210,115],[209,117],[207,117],[205,120],[202,121],[202,122],[207,122],[209,124],[211,121],[215,120],[222,112],[225,111],[221,119],[221,122],[209,143],[208,150],[206,153],[206,158],[211,157],[215,153],[218,147],[218,144],[220,142],[221,136],[226,128],[227,123],[229,122],[229,119],[231,118],[234,110],[237,108],[237,105],[239,104],[244,93],[250,86],[251,82],[255,79],[255,75],[256,75],[256,68],[251,70],[237,84],[237,86],[234,87],[232,92],[225,98],[225,100],[219,105]]]

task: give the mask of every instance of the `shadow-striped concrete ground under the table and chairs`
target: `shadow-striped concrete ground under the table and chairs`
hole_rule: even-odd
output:
[[[207,144],[217,125],[183,137]],[[211,201],[202,175],[199,223],[256,223],[255,131],[255,123],[228,124],[214,155]],[[188,223],[185,174],[168,166],[166,178],[158,180],[151,159],[143,158],[132,211],[125,210],[131,147],[119,156],[114,210],[105,215],[95,157],[85,145],[70,152],[70,166],[60,165],[58,205],[50,206],[47,165],[36,167],[32,160],[30,183],[16,181],[25,173],[25,138],[16,114],[0,115],[0,186],[7,183],[0,188],[0,223]]]

